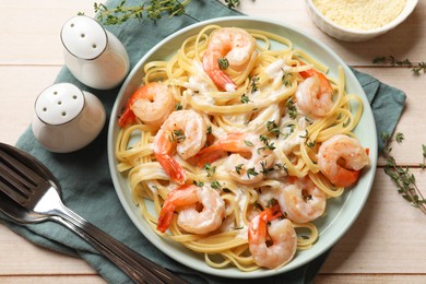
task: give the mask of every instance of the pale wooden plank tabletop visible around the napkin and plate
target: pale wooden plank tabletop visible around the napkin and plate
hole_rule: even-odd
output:
[[[397,29],[367,43],[342,43],[320,32],[304,1],[241,0],[249,14],[284,21],[330,46],[348,64],[403,90],[406,107],[397,131],[405,135],[393,155],[411,167],[426,193],[422,144],[426,143],[426,74],[371,63],[378,56],[426,61],[426,0]],[[28,127],[36,96],[63,64],[59,32],[87,0],[2,1],[0,7],[0,141],[15,143]],[[412,208],[379,161],[371,194],[353,227],[334,246],[316,283],[426,283],[426,216]],[[32,245],[0,224],[0,283],[104,283],[84,261]]]

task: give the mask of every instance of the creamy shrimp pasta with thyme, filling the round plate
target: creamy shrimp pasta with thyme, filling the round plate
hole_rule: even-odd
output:
[[[369,165],[363,102],[327,73],[288,38],[217,25],[145,63],[115,154],[153,232],[241,271],[315,246],[328,200]]]

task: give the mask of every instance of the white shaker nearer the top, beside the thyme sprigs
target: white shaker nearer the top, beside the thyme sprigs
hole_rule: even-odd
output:
[[[129,72],[129,56],[121,42],[94,19],[78,15],[61,29],[63,57],[71,73],[83,84],[108,90]]]

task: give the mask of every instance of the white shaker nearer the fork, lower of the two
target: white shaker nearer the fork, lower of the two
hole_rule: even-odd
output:
[[[91,143],[105,125],[100,100],[70,83],[44,90],[35,102],[32,130],[47,150],[69,153]]]

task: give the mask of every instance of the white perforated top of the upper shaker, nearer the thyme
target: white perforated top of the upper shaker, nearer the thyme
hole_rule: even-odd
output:
[[[98,57],[108,44],[104,27],[84,15],[74,16],[63,24],[61,40],[71,55],[86,60]]]

